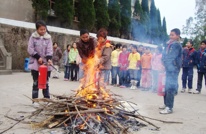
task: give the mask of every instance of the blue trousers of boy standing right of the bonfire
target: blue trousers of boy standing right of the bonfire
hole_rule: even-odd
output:
[[[164,104],[170,109],[172,109],[174,106],[174,96],[178,90],[178,75],[178,71],[166,71]]]

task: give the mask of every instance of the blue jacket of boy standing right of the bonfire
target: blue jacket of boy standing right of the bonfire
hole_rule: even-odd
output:
[[[170,42],[164,49],[162,61],[166,71],[179,72],[182,66],[182,46],[179,42]]]

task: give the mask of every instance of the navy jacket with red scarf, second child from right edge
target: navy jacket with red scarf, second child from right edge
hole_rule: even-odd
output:
[[[184,49],[182,54],[182,67],[194,67],[196,65],[197,52],[194,48]]]

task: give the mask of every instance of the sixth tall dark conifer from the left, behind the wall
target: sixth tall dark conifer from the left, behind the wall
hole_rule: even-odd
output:
[[[124,35],[129,39],[131,32],[131,0],[120,0],[121,5],[121,29],[120,36]]]

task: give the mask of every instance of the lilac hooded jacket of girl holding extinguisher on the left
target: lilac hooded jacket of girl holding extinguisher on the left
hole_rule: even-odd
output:
[[[29,69],[39,70],[38,59],[42,58],[44,63],[52,59],[53,46],[51,36],[45,33],[44,36],[40,36],[37,32],[34,32],[29,38],[27,51],[30,55]],[[48,66],[48,71],[51,71],[52,67]]]

